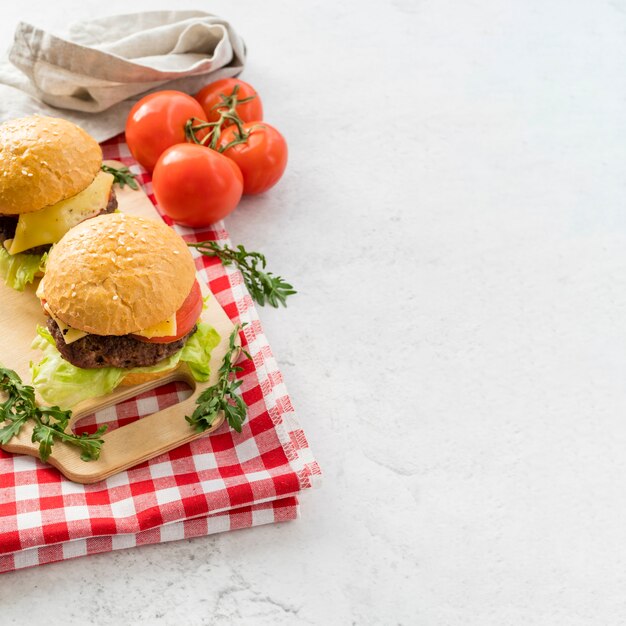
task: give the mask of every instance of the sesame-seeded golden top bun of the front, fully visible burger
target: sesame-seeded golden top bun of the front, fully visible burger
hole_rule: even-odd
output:
[[[194,280],[193,257],[173,229],[111,213],[81,222],[53,246],[41,291],[68,326],[127,335],[175,314]]]

